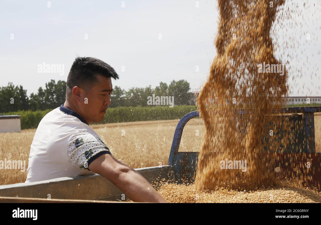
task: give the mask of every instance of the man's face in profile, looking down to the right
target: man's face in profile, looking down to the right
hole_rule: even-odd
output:
[[[87,92],[83,92],[82,116],[88,122],[100,122],[103,120],[113,89],[110,77],[97,75],[98,82]],[[88,100],[86,101],[87,98]]]

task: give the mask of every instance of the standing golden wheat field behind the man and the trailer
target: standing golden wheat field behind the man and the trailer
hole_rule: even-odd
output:
[[[315,114],[316,150],[321,152],[321,113]],[[113,156],[132,168],[168,165],[170,147],[179,120],[139,121],[92,125]],[[28,168],[30,145],[36,129],[21,133],[0,133],[0,160],[25,160]],[[204,122],[192,119],[184,128],[179,151],[198,152],[202,146]],[[0,185],[22,183],[27,171],[0,170]]]

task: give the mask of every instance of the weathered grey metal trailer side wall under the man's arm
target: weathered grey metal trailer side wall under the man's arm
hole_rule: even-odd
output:
[[[135,170],[149,182],[174,176],[171,166],[146,167]],[[121,195],[122,192],[114,184],[98,174],[0,186],[0,196],[2,197],[115,201],[120,200]]]

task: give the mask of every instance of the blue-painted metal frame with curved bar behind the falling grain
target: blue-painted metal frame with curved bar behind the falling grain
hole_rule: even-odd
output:
[[[234,110],[236,113],[244,113],[244,110]],[[217,111],[220,112],[220,111]],[[307,107],[284,107],[281,113],[303,113],[306,123],[306,137],[308,143],[308,153],[315,152],[315,135],[314,135],[314,112],[321,112],[321,106],[307,106]],[[196,168],[196,160],[198,152],[178,152],[180,140],[183,134],[183,129],[186,123],[199,116],[199,111],[187,113],[178,122],[172,146],[169,154],[169,165],[173,166],[175,179],[178,180],[185,175],[185,178],[194,181],[193,175]]]

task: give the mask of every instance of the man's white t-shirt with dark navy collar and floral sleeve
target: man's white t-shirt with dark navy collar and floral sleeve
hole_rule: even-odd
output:
[[[80,115],[61,105],[39,123],[25,182],[94,174],[88,166],[102,154],[111,153],[98,134]]]

